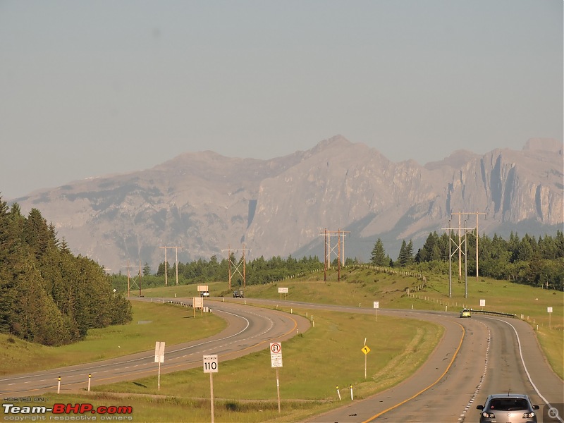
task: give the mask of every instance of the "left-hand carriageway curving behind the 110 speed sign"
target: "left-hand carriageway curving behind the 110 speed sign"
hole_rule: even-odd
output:
[[[148,298],[139,300],[150,301]],[[176,298],[164,300],[181,302]],[[191,304],[191,301],[185,302]],[[272,309],[257,309],[220,301],[207,301],[207,306],[214,314],[226,319],[228,327],[206,339],[166,345],[165,362],[161,364],[162,374],[201,367],[204,354],[216,354],[219,361],[231,360],[269,348],[270,342],[284,341],[295,336],[298,331],[305,332],[309,329],[309,321],[304,317]],[[87,388],[88,374],[92,374],[92,386],[157,374],[154,348],[112,360],[3,376],[0,378],[0,394],[3,398],[8,398],[37,396],[47,391],[56,391],[59,376],[61,392],[76,391]]]

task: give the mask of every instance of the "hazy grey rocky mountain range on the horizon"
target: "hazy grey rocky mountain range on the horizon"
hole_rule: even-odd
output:
[[[24,213],[39,209],[73,252],[117,273],[128,262],[156,269],[164,246],[180,247],[180,262],[221,260],[223,250],[243,245],[250,259],[323,257],[324,228],[350,232],[348,257],[367,261],[381,238],[395,258],[403,239],[417,250],[457,212],[485,213],[480,233],[544,235],[564,223],[563,178],[563,145],[556,140],[529,140],[520,152],[458,151],[420,166],[394,163],[338,135],[270,160],[180,154],[145,171],[14,201]],[[476,216],[463,220],[473,228]],[[174,262],[174,252],[167,259]]]

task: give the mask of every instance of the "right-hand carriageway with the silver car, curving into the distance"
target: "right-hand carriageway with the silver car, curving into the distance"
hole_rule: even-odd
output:
[[[374,313],[360,307],[274,302],[284,307]],[[564,423],[563,381],[548,366],[525,321],[476,313],[460,319],[458,312],[419,310],[379,309],[378,314],[432,321],[446,331],[429,360],[406,381],[308,422],[477,422],[476,406],[489,393],[510,391],[529,394],[541,407],[539,422]],[[560,417],[542,419],[548,404],[558,409]]]

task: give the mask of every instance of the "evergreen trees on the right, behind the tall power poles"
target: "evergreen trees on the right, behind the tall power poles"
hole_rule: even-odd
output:
[[[478,265],[476,264],[476,243],[478,243]],[[459,248],[460,245],[460,248]],[[413,245],[403,241],[396,262],[386,255],[380,239],[374,244],[371,264],[376,266],[413,266],[419,271],[440,271],[448,274],[450,264],[458,272],[458,259],[461,252],[462,266],[467,266],[470,276],[505,279],[532,286],[543,286],[556,290],[564,289],[564,235],[556,231],[556,236],[544,235],[534,238],[525,234],[519,238],[510,233],[509,240],[495,235],[482,235],[476,232],[458,237],[458,233],[430,233],[422,248],[413,255]],[[465,259],[466,257],[466,259]],[[453,270],[454,272],[454,270]]]

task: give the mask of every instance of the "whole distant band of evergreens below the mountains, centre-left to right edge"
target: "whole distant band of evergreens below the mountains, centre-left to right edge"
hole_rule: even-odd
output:
[[[450,245],[449,245],[450,238]],[[449,255],[453,274],[458,272],[458,246],[462,252],[462,268],[467,268],[469,276],[476,274],[476,233],[468,233],[458,238],[458,233],[430,233],[422,248],[414,252],[412,240],[402,241],[396,260],[386,253],[384,243],[379,238],[374,244],[370,256],[370,264],[417,269],[417,271],[440,272],[448,274]],[[466,245],[465,245],[466,243]],[[484,277],[515,281],[532,286],[543,286],[556,290],[564,288],[564,235],[556,231],[556,236],[545,235],[534,238],[525,235],[523,238],[515,233],[509,240],[498,235],[489,237],[482,235],[478,239],[479,275]],[[467,259],[465,260],[465,256]],[[178,283],[207,283],[226,281],[228,279],[229,262],[231,261],[231,284],[234,289],[243,284],[243,264],[241,259],[221,259],[212,256],[209,261],[197,259],[185,264],[178,263]],[[345,259],[341,265],[358,264],[357,259]],[[331,263],[338,264],[337,259]],[[291,255],[287,259],[280,256],[271,259],[252,259],[245,263],[245,283],[255,285],[281,281],[284,278],[321,271],[324,268],[319,257],[303,257],[295,259]],[[168,284],[176,283],[176,264],[166,264]],[[151,274],[148,264],[142,269],[142,284],[145,288],[164,284],[165,264],[161,262],[156,274]],[[127,279],[123,275],[114,276],[114,286],[123,290]]]

